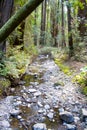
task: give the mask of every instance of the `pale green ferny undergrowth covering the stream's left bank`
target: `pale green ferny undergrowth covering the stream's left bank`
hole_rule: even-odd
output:
[[[21,46],[9,47],[3,64],[0,64],[0,75],[19,78],[25,73],[28,64],[31,62],[31,57],[36,54],[36,48],[33,45],[30,46],[29,52],[21,50]]]

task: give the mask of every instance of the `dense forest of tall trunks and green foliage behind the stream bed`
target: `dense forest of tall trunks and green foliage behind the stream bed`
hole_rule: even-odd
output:
[[[10,23],[12,16],[16,16],[20,9],[23,12],[22,7],[26,3],[27,0],[0,1],[0,28],[8,19]],[[28,2],[30,3],[32,0]],[[64,61],[84,63],[84,72],[80,72],[75,80],[84,86],[86,93],[87,0],[44,0],[33,10],[8,37],[8,33],[3,35],[6,26],[0,31],[0,38],[5,38],[0,40],[1,77],[11,81],[19,79],[38,53],[50,53],[62,69]],[[13,21],[12,25],[17,25],[17,21]],[[8,32],[11,28],[12,26],[8,28]]]

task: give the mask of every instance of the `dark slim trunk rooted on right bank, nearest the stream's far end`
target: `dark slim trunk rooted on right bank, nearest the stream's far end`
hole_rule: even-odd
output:
[[[68,4],[67,5],[67,11],[68,11],[68,42],[69,42],[69,56],[72,57],[74,54],[74,48],[73,48],[73,38],[72,38],[72,26],[71,26],[71,7]]]

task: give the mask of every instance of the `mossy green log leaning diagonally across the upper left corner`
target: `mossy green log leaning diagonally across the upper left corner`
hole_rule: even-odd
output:
[[[21,9],[13,15],[0,29],[0,42],[4,41],[9,34],[30,14],[43,0],[29,0]]]

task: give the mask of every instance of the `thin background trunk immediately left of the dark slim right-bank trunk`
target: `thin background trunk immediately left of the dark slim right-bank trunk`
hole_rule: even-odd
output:
[[[65,46],[65,31],[64,31],[64,0],[61,1],[62,5],[62,47]]]

